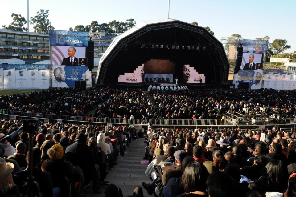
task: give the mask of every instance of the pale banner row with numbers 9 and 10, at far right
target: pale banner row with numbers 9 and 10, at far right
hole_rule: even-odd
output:
[[[276,90],[295,89],[295,71],[296,70],[266,69],[263,87]]]

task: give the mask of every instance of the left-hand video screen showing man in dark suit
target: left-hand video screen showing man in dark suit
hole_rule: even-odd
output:
[[[85,58],[85,47],[52,46],[52,64],[77,66],[78,58]]]

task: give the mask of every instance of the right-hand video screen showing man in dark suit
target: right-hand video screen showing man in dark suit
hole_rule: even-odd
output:
[[[241,61],[241,70],[261,70],[263,54],[261,53],[243,53]]]

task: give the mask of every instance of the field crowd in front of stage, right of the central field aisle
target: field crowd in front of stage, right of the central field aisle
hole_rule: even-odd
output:
[[[221,119],[235,112],[296,117],[296,90],[151,89],[149,94],[165,119]]]

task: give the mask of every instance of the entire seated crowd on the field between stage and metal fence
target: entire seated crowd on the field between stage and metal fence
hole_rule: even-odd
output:
[[[222,119],[228,113],[296,117],[296,90],[189,89],[149,91],[143,88],[73,88],[1,96],[3,109],[48,115],[121,119]],[[50,96],[49,96],[50,95]],[[150,97],[150,98],[151,98]],[[93,113],[89,113],[94,111]],[[43,115],[42,115],[43,114]]]

